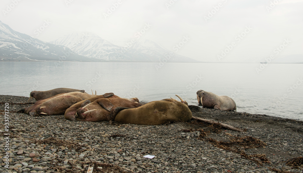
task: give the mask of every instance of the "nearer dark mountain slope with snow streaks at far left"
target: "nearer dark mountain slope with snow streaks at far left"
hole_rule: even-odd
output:
[[[65,46],[16,32],[0,21],[0,61],[95,61]]]

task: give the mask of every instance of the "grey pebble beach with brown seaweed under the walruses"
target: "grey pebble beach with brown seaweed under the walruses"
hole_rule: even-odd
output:
[[[0,103],[0,172],[303,172],[302,121],[189,106],[195,117],[246,129],[238,132],[198,121],[76,122],[18,113],[34,103],[28,97],[0,95]]]

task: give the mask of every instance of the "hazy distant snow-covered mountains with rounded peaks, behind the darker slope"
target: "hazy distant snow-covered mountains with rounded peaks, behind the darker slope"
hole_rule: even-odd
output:
[[[66,46],[79,55],[106,61],[159,62],[198,62],[194,59],[174,54],[156,42],[140,39],[127,40],[117,46],[91,32],[72,33],[50,43]],[[169,58],[168,58],[169,57]]]

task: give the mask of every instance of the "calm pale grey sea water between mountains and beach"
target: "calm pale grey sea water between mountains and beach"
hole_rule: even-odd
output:
[[[257,73],[260,65],[0,62],[0,94],[29,97],[33,90],[66,87],[145,102],[177,94],[198,105],[196,92],[205,90],[233,98],[238,112],[303,120],[303,64],[268,64]]]

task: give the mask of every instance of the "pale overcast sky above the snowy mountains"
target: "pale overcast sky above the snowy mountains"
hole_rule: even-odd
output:
[[[0,6],[3,23],[46,42],[94,32],[108,41],[150,39],[208,62],[303,55],[303,0],[1,0]]]

